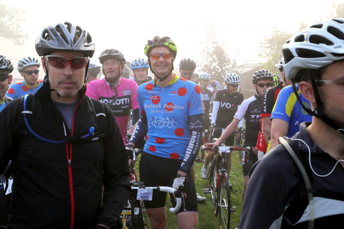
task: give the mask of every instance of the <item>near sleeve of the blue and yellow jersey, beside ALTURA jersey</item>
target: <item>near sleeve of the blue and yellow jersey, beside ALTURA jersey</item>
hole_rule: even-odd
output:
[[[279,118],[289,123],[293,106],[294,104],[291,99],[291,93],[288,90],[288,87],[285,87],[278,94],[270,119]]]

